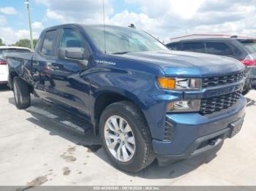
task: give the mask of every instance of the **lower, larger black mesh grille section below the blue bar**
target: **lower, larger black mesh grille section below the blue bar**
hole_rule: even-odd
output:
[[[227,109],[233,106],[233,104],[236,104],[240,96],[240,92],[234,92],[211,98],[203,98],[201,100],[200,114],[211,114],[213,112],[219,112],[222,109]]]

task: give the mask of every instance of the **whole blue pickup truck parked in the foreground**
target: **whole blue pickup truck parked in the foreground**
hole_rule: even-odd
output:
[[[221,147],[244,121],[240,62],[171,51],[135,28],[46,28],[34,53],[10,53],[7,62],[18,109],[34,94],[81,117],[124,171]]]

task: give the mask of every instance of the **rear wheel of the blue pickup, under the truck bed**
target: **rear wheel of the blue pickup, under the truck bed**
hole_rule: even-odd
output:
[[[30,106],[29,85],[20,77],[13,79],[13,94],[18,109],[26,109]]]

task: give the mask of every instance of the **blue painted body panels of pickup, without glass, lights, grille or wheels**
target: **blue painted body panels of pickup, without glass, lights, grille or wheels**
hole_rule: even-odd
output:
[[[67,27],[78,31],[88,44],[87,67],[76,61],[61,60],[57,56],[45,57],[39,53],[45,31],[58,29],[60,31],[56,39],[58,44],[61,29]],[[231,122],[244,117],[246,101],[243,96],[236,106],[227,109],[225,113],[203,116],[197,112],[176,114],[166,112],[170,101],[206,98],[213,90],[234,87],[242,82],[184,92],[162,90],[157,85],[157,77],[219,77],[243,71],[244,66],[232,58],[167,49],[128,52],[123,55],[105,54],[95,46],[84,26],[69,24],[48,28],[45,31],[39,37],[34,55],[17,53],[8,55],[10,73],[18,73],[45,101],[50,101],[83,117],[94,127],[97,122],[94,106],[99,95],[116,93],[124,96],[136,104],[146,117],[154,152],[157,155],[180,155],[193,144],[195,139],[227,129]],[[57,46],[56,52],[58,52]],[[21,69],[14,67],[17,60],[14,58],[25,60],[26,70],[23,70],[24,67]],[[48,63],[58,67],[58,71],[49,69]],[[20,66],[23,66],[22,62]],[[28,81],[26,76],[31,80]],[[174,127],[173,140],[170,142],[163,141],[165,120],[170,120]]]

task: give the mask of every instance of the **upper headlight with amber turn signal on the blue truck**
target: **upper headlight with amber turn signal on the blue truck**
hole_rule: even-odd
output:
[[[159,87],[167,90],[200,90],[202,87],[201,79],[158,77],[157,81]]]

